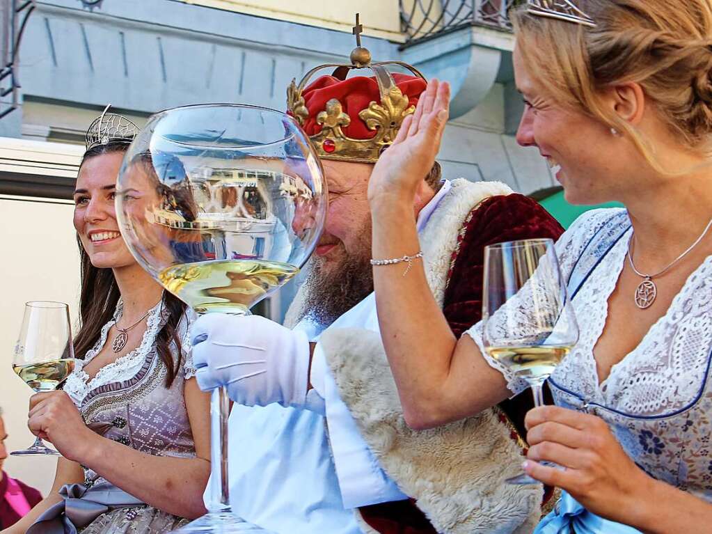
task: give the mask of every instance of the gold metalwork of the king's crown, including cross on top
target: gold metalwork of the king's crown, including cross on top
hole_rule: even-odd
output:
[[[288,112],[305,128],[318,155],[324,159],[376,162],[379,155],[395,140],[404,118],[415,111],[415,106],[410,102],[412,99],[417,99],[426,85],[424,75],[407,63],[402,61],[373,63],[370,51],[361,46],[362,31],[363,26],[359,23],[359,15],[357,14],[356,26],[354,26],[352,32],[356,36],[357,46],[351,52],[350,65],[334,63],[320,65],[306,73],[299,85],[297,85],[296,79],[293,79],[287,89]],[[403,78],[399,78],[401,80],[405,80],[405,78],[407,80],[423,80],[423,83],[419,84],[419,86],[422,85],[422,88],[417,95],[403,93],[398,86],[399,83],[394,79],[394,74],[389,70],[390,66],[400,66],[412,73],[412,76],[400,75],[403,76]],[[319,70],[331,68],[334,70],[331,73],[330,80],[335,85],[349,83],[349,80],[357,78],[352,76],[347,80],[347,76],[352,70],[371,71],[372,78],[369,75],[364,76],[364,78],[375,79],[380,101],[370,100],[365,108],[347,110],[348,112],[344,112],[345,104],[338,98],[330,98],[325,103],[320,103],[320,105],[310,103],[308,108],[308,104],[305,102],[305,95],[311,93],[315,85],[308,85],[308,83],[312,81],[313,75]],[[366,85],[369,84],[372,85],[373,82],[369,81]],[[367,94],[370,93],[362,93],[361,96],[369,98]],[[376,91],[374,91],[373,96],[375,95]],[[314,109],[315,106],[322,109]],[[363,138],[350,137],[344,131],[350,125],[356,126],[353,124],[355,120],[361,120],[364,123],[365,127],[360,128],[360,131],[365,132],[367,135],[362,135]],[[316,130],[319,131],[317,132]]]

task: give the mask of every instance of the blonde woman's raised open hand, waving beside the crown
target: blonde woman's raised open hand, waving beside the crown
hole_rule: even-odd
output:
[[[387,197],[412,204],[440,150],[449,102],[449,83],[430,80],[415,112],[405,117],[393,144],[376,163],[368,186],[369,201]]]

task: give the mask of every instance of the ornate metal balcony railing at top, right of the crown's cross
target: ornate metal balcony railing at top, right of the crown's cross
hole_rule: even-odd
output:
[[[512,31],[508,10],[522,0],[399,0],[401,26],[410,46],[465,26]]]

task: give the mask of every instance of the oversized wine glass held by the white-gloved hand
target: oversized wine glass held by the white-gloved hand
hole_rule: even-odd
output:
[[[116,211],[128,248],[198,314],[246,315],[308,260],[323,229],[320,161],[298,123],[248,105],[153,115],[125,155]],[[213,392],[209,512],[180,532],[243,532],[229,501],[224,387]]]

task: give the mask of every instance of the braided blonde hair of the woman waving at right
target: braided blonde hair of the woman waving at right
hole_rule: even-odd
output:
[[[649,140],[604,108],[601,92],[639,83],[682,143],[710,153],[712,138],[712,2],[710,0],[575,0],[595,28],[535,16],[511,16],[531,75],[561,105],[584,110],[624,132],[658,172]]]

